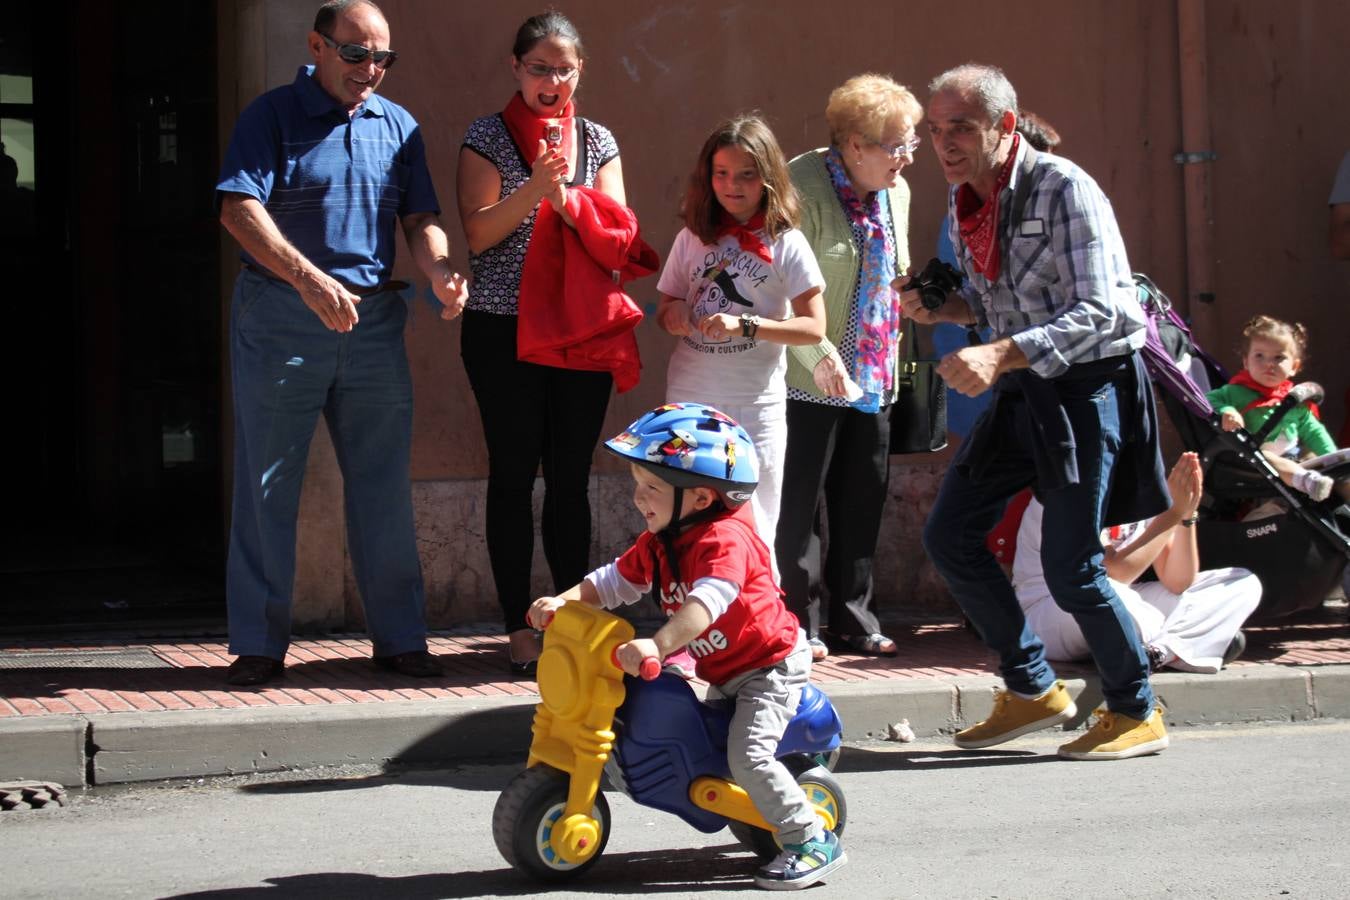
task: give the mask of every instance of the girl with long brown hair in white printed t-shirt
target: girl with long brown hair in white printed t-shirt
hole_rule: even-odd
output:
[[[749,432],[760,464],[755,524],[772,548],[787,445],[784,348],[825,335],[825,279],[796,229],[787,159],[763,119],[737,116],[709,136],[683,217],[657,283],[656,321],[680,339],[666,399],[707,403]]]

